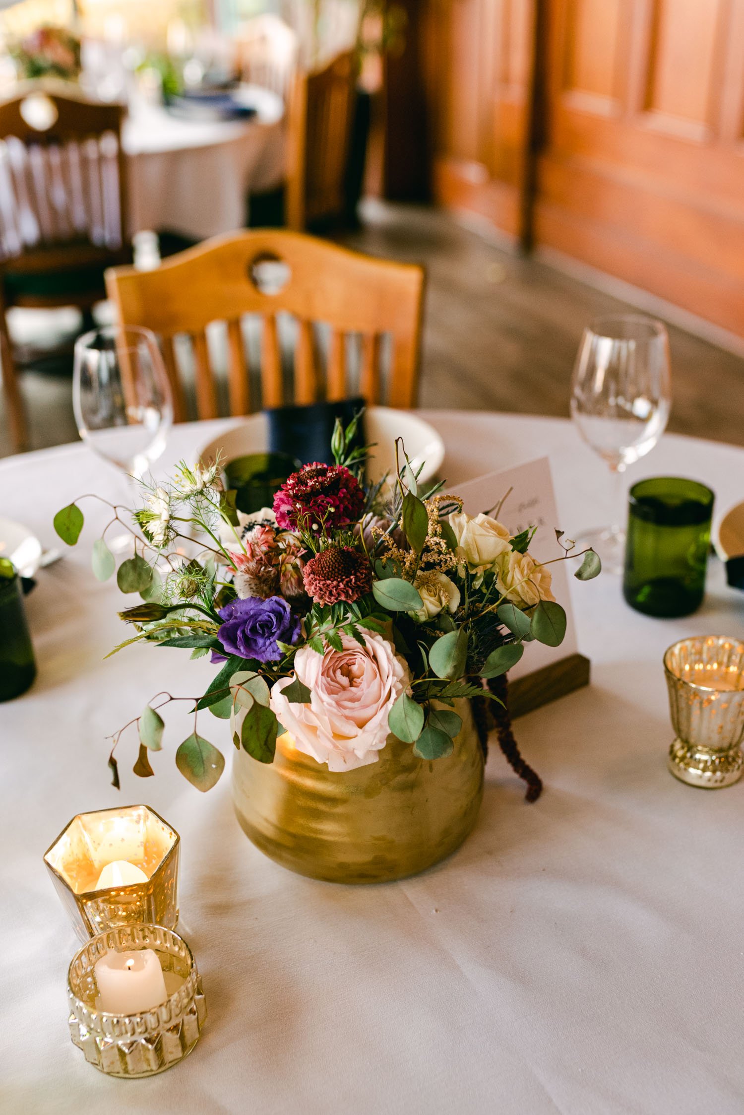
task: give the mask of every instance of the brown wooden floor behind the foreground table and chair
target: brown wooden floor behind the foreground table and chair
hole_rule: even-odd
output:
[[[421,405],[568,415],[586,322],[627,303],[535,260],[501,251],[425,209],[368,206],[344,242],[428,271]],[[669,428],[744,445],[744,360],[669,327]],[[66,378],[27,374],[35,447],[77,438]],[[0,456],[10,452],[0,415]]]

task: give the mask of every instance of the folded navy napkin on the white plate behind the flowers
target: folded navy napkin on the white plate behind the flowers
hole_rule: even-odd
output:
[[[303,465],[313,460],[333,464],[331,438],[336,418],[347,426],[364,407],[364,399],[341,399],[339,403],[311,403],[309,406],[275,407],[266,410],[268,448],[272,453],[288,453]],[[352,448],[366,445],[362,415]]]

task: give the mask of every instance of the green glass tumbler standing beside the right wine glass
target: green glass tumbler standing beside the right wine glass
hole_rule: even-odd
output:
[[[703,602],[713,492],[658,476],[630,488],[623,594],[646,615],[689,615]]]

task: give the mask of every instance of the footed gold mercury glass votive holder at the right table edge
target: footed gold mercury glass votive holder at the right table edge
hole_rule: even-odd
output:
[[[664,655],[672,726],[669,770],[689,786],[718,789],[744,770],[744,642],[703,636]]]

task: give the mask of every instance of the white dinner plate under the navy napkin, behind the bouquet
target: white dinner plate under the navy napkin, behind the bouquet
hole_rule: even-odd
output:
[[[420,481],[433,479],[444,460],[444,443],[433,426],[410,410],[390,407],[368,407],[364,411],[366,439],[375,443],[370,450],[369,478],[373,483],[385,473],[395,472],[395,438],[402,437],[411,464],[423,464]],[[249,415],[236,420],[199,450],[202,460],[214,460],[217,453],[224,462],[248,453],[265,453],[268,448],[268,427],[264,415]]]

